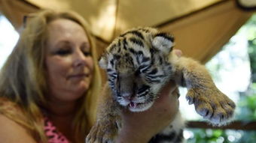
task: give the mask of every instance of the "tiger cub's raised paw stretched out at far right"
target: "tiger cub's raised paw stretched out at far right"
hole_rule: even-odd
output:
[[[218,89],[204,90],[190,88],[186,96],[189,104],[193,104],[199,115],[208,119],[212,124],[221,126],[232,118],[236,108],[235,103]]]

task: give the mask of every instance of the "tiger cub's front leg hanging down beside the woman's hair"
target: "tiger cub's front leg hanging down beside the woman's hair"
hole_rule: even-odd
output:
[[[87,135],[86,143],[113,143],[117,136],[117,121],[120,121],[118,105],[114,103],[108,85],[103,90],[104,95],[98,107],[97,121]]]

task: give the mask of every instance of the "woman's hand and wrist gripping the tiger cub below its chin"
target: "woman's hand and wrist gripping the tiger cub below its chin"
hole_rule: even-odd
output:
[[[181,56],[181,51],[175,49],[175,55]],[[117,136],[118,143],[148,142],[154,135],[168,126],[178,112],[177,86],[170,81],[160,91],[160,96],[154,105],[145,112],[123,111],[123,126]]]

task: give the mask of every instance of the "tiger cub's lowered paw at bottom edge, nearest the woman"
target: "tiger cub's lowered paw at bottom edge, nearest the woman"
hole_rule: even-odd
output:
[[[117,133],[117,126],[114,122],[98,121],[93,125],[87,135],[86,143],[114,143],[114,136]]]

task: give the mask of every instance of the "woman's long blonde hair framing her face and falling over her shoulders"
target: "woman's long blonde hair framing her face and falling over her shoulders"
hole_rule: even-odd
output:
[[[90,88],[81,99],[74,119],[76,142],[84,142],[85,136],[96,119],[96,104],[101,90],[101,77],[97,63],[96,45],[84,19],[72,11],[42,10],[28,16],[25,28],[13,52],[0,73],[0,97],[8,98],[23,111],[24,118],[8,112],[0,106],[0,112],[26,127],[38,142],[46,142],[41,107],[47,106],[46,70],[44,65],[47,25],[54,19],[70,19],[84,28],[93,54],[94,72]]]

